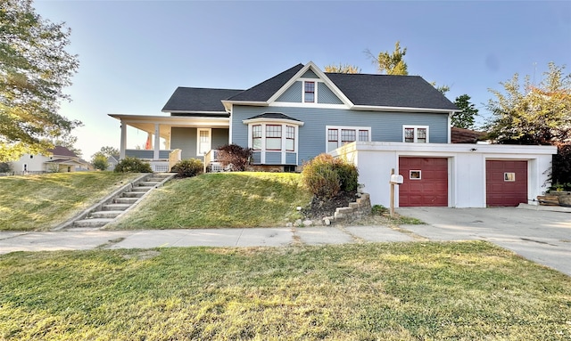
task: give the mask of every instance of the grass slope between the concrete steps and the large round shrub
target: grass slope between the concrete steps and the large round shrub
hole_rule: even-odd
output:
[[[171,181],[112,229],[283,226],[310,202],[301,175],[219,173]]]

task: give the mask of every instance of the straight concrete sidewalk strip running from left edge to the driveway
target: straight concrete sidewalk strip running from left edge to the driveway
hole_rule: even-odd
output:
[[[0,255],[14,251],[94,248],[285,247],[356,242],[410,241],[385,226],[247,228],[143,231],[0,231]]]

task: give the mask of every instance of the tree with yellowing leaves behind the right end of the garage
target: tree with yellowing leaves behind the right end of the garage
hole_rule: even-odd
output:
[[[561,144],[571,142],[571,75],[550,62],[539,85],[526,76],[523,87],[517,74],[501,83],[503,92],[490,90],[492,112],[485,128],[501,143]]]

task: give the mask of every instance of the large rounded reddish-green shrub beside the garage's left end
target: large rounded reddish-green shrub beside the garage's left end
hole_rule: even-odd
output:
[[[331,199],[340,191],[356,191],[358,177],[356,166],[325,153],[305,163],[302,171],[303,184],[321,199]]]

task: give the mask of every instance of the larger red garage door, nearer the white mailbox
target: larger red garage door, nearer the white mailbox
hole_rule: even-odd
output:
[[[448,206],[448,158],[399,158],[399,206]]]

